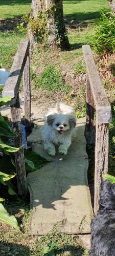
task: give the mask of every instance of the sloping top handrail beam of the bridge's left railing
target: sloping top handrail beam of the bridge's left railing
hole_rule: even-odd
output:
[[[23,39],[20,42],[19,48],[14,58],[12,68],[10,70],[11,75],[6,81],[4,90],[2,92],[3,97],[10,95],[12,98],[17,97],[19,84],[22,76],[22,72],[27,60],[27,52],[29,49],[29,40]]]

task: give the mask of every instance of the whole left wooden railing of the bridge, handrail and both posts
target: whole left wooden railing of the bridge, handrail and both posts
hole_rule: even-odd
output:
[[[20,115],[20,101],[19,101],[19,85],[22,73],[24,75],[24,108],[25,108],[25,125],[31,125],[31,92],[30,92],[30,42],[28,39],[21,40],[17,53],[15,55],[11,75],[6,81],[3,97],[10,95],[11,100],[11,121],[13,124],[13,131],[17,134],[14,139],[14,146],[20,147],[22,145],[22,131],[21,131],[21,115]],[[25,157],[24,148],[15,153],[16,177],[18,194],[24,195],[26,193],[26,171],[25,171]]]

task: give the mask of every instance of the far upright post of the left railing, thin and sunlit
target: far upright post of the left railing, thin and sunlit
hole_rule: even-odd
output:
[[[24,107],[25,107],[25,125],[31,126],[31,88],[30,88],[30,55],[29,48],[27,52],[27,61],[23,73],[24,78]]]

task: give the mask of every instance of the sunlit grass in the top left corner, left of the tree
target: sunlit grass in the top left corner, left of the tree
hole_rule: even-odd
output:
[[[1,0],[0,18],[12,19],[29,13],[31,0]]]

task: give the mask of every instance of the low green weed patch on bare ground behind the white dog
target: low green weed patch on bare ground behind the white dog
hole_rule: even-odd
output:
[[[43,70],[38,78],[35,79],[36,87],[48,89],[50,91],[62,91],[64,89],[64,81],[60,71],[54,66],[48,66]]]

